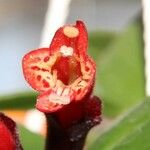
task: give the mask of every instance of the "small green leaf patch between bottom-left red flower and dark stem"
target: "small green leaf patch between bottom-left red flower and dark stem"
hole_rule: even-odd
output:
[[[44,138],[19,126],[20,141],[24,150],[44,150]]]

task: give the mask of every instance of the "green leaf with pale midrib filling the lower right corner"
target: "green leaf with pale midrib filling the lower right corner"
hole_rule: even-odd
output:
[[[102,134],[88,150],[149,150],[150,98]]]

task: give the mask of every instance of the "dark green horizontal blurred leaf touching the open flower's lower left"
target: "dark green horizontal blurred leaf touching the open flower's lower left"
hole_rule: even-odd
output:
[[[16,93],[0,97],[0,110],[30,109],[36,102],[36,94],[32,92]]]

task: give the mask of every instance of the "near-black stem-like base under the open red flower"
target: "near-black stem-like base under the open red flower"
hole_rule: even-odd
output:
[[[68,130],[62,129],[52,114],[45,114],[47,136],[45,150],[82,150],[87,132],[78,140],[71,141]]]

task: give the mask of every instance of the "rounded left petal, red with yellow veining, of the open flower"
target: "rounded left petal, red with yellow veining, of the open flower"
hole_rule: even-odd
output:
[[[26,81],[37,91],[43,92],[50,88],[49,49],[41,48],[27,53],[22,61]]]

